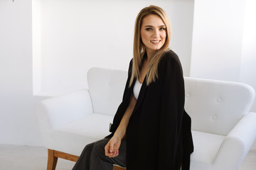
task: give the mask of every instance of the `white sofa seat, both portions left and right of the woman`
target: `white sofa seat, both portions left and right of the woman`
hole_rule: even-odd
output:
[[[48,148],[60,152],[80,155],[85,145],[110,134],[111,115],[92,113],[80,120],[55,128],[48,138]],[[192,131],[194,152],[191,166],[210,166],[225,139],[223,135]]]

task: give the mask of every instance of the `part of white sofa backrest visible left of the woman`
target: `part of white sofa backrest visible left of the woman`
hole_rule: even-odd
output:
[[[127,71],[92,68],[87,72],[87,81],[94,113],[114,115],[122,102]]]

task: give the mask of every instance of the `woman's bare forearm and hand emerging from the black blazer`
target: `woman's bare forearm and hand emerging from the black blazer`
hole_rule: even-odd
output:
[[[132,111],[134,110],[134,107],[136,105],[136,98],[134,95],[131,95],[129,106],[127,107],[127,110],[125,111],[122,120],[117,128],[117,130],[114,132],[113,137],[110,139],[110,141],[105,146],[105,155],[107,157],[117,157],[119,154],[119,147],[121,145],[121,140],[124,137],[127,125],[129,123],[129,118],[132,115]]]

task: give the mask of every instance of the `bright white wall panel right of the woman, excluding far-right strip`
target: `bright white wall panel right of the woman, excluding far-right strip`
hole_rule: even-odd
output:
[[[191,77],[239,81],[244,0],[195,0]]]

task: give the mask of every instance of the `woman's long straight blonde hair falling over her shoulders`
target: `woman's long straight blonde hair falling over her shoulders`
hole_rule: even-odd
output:
[[[152,14],[159,16],[164,22],[164,24],[166,25],[166,41],[159,50],[156,50],[154,52],[153,57],[151,57],[151,60],[149,61],[149,69],[146,74],[147,86],[149,86],[149,84],[152,81],[156,81],[156,79],[158,78],[157,68],[158,68],[159,61],[161,60],[162,55],[164,55],[164,52],[166,52],[166,50],[169,49],[169,42],[171,39],[171,24],[166,12],[159,6],[149,6],[149,7],[143,8],[142,11],[139,12],[136,18],[135,26],[134,26],[132,77],[129,81],[129,86],[132,86],[132,82],[134,81],[134,79],[139,78],[139,69],[142,66],[143,56],[146,52],[146,47],[142,42],[142,38],[141,38],[142,21],[146,16],[149,16]]]

